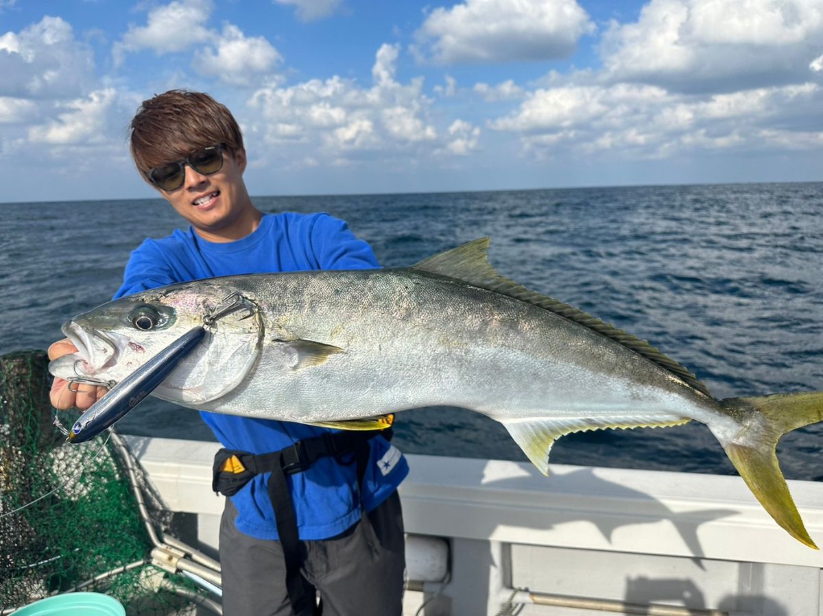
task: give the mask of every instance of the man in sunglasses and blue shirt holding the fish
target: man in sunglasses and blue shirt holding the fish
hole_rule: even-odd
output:
[[[239,126],[209,95],[170,90],[144,101],[131,123],[131,152],[143,178],[191,226],[146,239],[132,253],[115,298],[212,276],[379,266],[368,244],[342,220],[327,214],[264,215],[253,206],[243,181],[247,159]],[[49,348],[49,357],[74,351],[61,340]],[[55,379],[53,405],[84,410],[105,395],[101,387],[72,389]],[[227,616],[317,614],[315,588],[325,616],[402,613],[397,487],[408,466],[382,435],[366,433],[357,440],[339,433],[345,436],[335,436],[337,447],[326,452],[331,431],[325,428],[203,411],[201,416],[234,452],[285,455],[296,451],[295,442],[319,451],[305,470],[305,459],[287,471],[278,462],[226,498],[220,555]],[[230,453],[217,461],[217,470]],[[300,468],[292,473],[295,467]]]

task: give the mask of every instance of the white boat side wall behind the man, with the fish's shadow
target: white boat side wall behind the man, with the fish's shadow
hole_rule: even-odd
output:
[[[197,514],[202,549],[214,549],[219,445],[125,438],[166,505]],[[525,463],[407,457],[408,616],[823,614],[823,555],[737,476],[552,465],[543,477]],[[823,484],[789,487],[823,543]]]

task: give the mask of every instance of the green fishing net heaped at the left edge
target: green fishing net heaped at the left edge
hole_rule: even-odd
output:
[[[0,614],[67,591],[104,592],[127,614],[195,614],[207,591],[151,564],[146,524],[162,535],[174,516],[116,434],[66,442],[47,365],[42,351],[0,356]]]

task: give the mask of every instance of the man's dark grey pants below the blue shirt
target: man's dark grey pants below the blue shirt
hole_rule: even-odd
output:
[[[292,616],[279,541],[235,528],[226,498],[220,524],[225,616]],[[323,600],[323,616],[400,616],[406,568],[398,493],[355,526],[327,540],[303,541],[301,572]]]

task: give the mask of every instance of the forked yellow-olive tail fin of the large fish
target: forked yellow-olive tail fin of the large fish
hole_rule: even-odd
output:
[[[802,544],[818,549],[803,525],[777,459],[783,434],[823,420],[823,391],[720,401],[742,430],[723,449],[766,512]],[[715,434],[717,435],[717,434]]]

